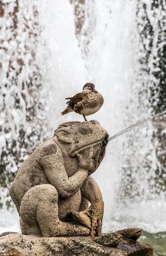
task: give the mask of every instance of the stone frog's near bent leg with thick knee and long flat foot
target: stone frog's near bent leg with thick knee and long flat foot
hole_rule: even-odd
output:
[[[50,236],[88,236],[90,230],[58,218],[58,192],[50,184],[38,185],[24,195],[20,206],[23,234]]]

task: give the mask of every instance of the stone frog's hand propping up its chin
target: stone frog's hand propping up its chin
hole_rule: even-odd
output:
[[[94,161],[94,159],[92,159],[93,157],[93,147],[90,148],[89,152],[85,152],[85,153],[81,153],[81,154],[76,154],[78,157],[78,161],[79,161],[79,168],[80,169],[85,169],[88,171],[88,174],[93,173],[95,167],[96,167],[96,163]]]

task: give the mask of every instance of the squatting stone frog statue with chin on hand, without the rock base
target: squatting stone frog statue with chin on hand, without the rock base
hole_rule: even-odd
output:
[[[22,234],[101,235],[104,202],[90,174],[105,155],[107,138],[97,121],[66,122],[23,162],[9,189]]]

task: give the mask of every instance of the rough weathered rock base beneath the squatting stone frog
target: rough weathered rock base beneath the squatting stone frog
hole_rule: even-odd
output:
[[[21,233],[0,238],[0,256],[153,256],[151,245],[124,239],[115,247],[91,237],[36,237]]]

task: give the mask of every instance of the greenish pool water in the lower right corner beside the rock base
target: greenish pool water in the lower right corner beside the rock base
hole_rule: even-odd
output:
[[[154,256],[166,256],[166,231],[155,234],[142,231],[138,241],[152,245]]]

